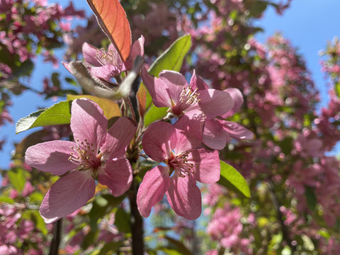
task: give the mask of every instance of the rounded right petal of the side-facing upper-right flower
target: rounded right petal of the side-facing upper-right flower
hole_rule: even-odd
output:
[[[217,89],[205,89],[198,91],[200,101],[198,105],[207,118],[215,118],[223,115],[234,107],[234,101],[228,92]]]

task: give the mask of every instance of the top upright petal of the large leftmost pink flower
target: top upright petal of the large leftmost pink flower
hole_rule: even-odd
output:
[[[76,99],[72,102],[71,129],[74,140],[87,140],[94,145],[95,152],[103,145],[108,120],[97,103],[89,99]]]

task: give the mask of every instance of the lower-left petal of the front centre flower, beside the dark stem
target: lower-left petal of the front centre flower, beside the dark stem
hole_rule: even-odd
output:
[[[137,206],[143,217],[149,217],[152,206],[164,197],[170,186],[169,168],[155,166],[147,171],[137,192]]]

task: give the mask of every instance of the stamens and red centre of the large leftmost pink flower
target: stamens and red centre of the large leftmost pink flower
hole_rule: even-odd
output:
[[[77,139],[75,142],[77,146],[71,146],[71,149],[73,149],[74,152],[71,152],[69,161],[79,165],[77,170],[91,170],[93,171],[93,175],[96,176],[96,171],[102,164],[101,153],[97,154],[94,144],[90,144],[87,140],[79,141],[79,139]]]

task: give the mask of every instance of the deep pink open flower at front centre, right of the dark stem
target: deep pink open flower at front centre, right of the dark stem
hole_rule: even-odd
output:
[[[220,179],[218,152],[196,149],[202,142],[204,120],[203,113],[195,110],[182,115],[174,125],[160,121],[145,131],[145,153],[166,166],[155,166],[140,184],[137,206],[143,217],[149,216],[165,193],[178,215],[188,220],[200,216],[202,198],[196,181],[215,183]]]

